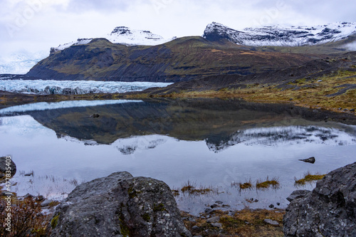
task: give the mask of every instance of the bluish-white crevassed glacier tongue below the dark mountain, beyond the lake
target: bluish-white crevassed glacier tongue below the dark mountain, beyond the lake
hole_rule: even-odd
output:
[[[147,88],[163,88],[172,83],[105,82],[94,80],[9,80],[0,78],[0,90],[36,95],[80,95],[89,93],[126,93]]]

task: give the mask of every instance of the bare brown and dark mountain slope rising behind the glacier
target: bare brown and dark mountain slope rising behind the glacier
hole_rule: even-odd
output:
[[[308,60],[310,56],[251,51],[199,36],[130,47],[98,38],[52,52],[27,75],[52,80],[178,82],[208,75],[261,73]]]

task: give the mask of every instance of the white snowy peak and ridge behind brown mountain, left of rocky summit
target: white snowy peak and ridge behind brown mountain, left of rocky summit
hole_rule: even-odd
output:
[[[111,43],[120,43],[127,46],[156,46],[161,43],[172,41],[176,37],[167,39],[156,35],[151,31],[135,30],[126,26],[117,26],[111,33],[101,38],[106,38]],[[77,41],[64,43],[58,47],[51,48],[51,53],[62,51],[63,49],[69,48],[70,46],[90,43],[92,40],[93,38],[78,38]]]

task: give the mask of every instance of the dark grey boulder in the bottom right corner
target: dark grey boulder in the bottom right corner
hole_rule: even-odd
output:
[[[285,236],[356,236],[356,163],[335,169],[290,202]]]

